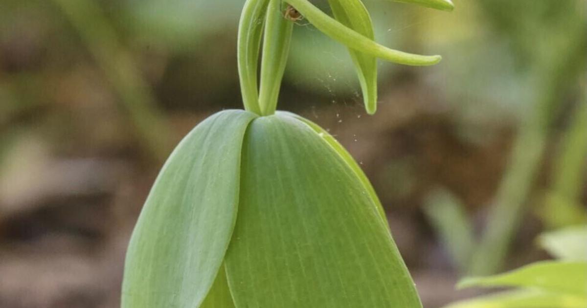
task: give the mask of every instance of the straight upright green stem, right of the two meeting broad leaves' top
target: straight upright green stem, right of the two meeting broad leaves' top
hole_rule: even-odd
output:
[[[267,9],[261,60],[259,106],[263,116],[275,113],[293,30],[294,23],[284,18],[281,11],[281,0],[271,0]]]

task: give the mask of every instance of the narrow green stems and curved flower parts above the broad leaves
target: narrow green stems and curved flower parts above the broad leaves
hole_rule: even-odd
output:
[[[373,23],[361,0],[328,0],[331,18],[308,0],[248,0],[239,31],[239,73],[245,109],[268,115],[275,112],[285,70],[292,22],[279,18],[282,3],[294,7],[319,31],[349,48],[355,64],[367,113],[377,108],[377,58],[404,65],[434,65],[440,56],[420,56],[377,44]],[[450,11],[450,0],[402,0]],[[269,7],[268,9],[265,9]],[[266,15],[266,16],[265,16]],[[257,88],[259,44],[265,24],[261,86]],[[288,25],[289,24],[289,25]],[[260,94],[259,94],[260,92]]]

